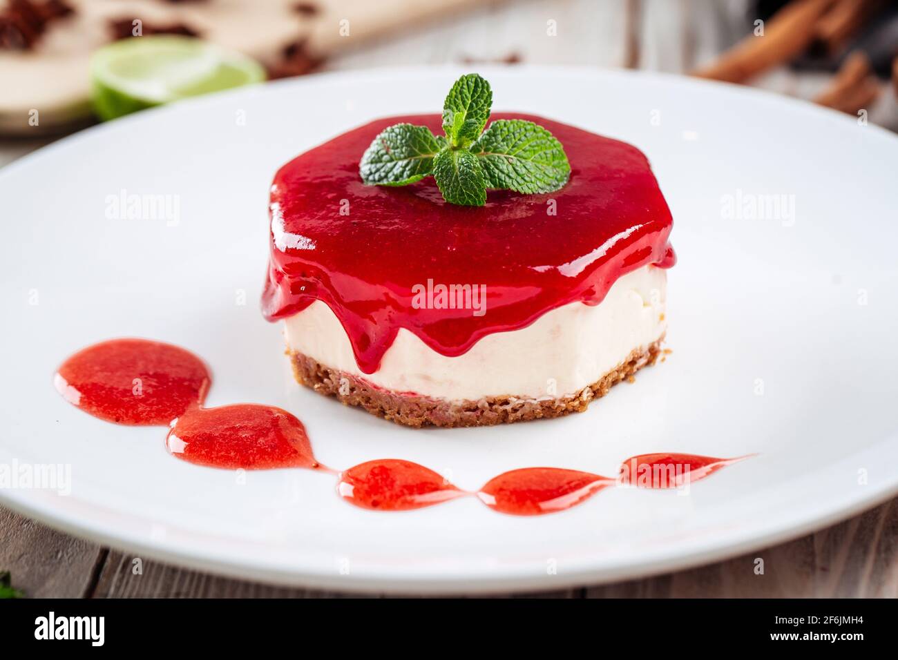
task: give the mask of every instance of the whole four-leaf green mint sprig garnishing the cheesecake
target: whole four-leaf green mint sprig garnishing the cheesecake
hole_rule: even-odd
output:
[[[443,105],[444,136],[412,124],[385,128],[367,148],[359,173],[367,185],[407,186],[433,174],[451,204],[482,207],[487,189],[551,192],[568,182],[564,147],[524,119],[497,119],[486,131],[493,92],[477,74],[462,75]]]

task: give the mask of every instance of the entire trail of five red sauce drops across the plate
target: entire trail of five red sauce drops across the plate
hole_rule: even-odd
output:
[[[340,497],[378,511],[408,511],[476,496],[503,514],[549,514],[576,506],[615,483],[678,488],[748,458],[640,454],[621,464],[617,480],[562,468],[524,468],[504,472],[473,493],[423,465],[400,459],[368,461],[338,473],[315,459],[303,423],[284,409],[252,403],[203,408],[210,383],[207,367],[197,356],[148,339],[111,339],[84,348],[69,357],[54,378],[58,392],[93,417],[170,427],[165,446],[183,461],[225,470],[330,472],[338,476]],[[672,476],[664,481],[654,476],[668,474]]]

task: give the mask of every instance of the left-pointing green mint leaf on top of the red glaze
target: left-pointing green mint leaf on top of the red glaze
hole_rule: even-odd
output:
[[[394,124],[374,138],[358,171],[369,186],[407,186],[433,171],[434,156],[445,144],[445,137],[427,127]]]

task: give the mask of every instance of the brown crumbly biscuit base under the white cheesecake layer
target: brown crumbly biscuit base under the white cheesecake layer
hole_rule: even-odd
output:
[[[325,396],[337,397],[344,405],[363,408],[377,417],[415,428],[487,427],[583,412],[591,400],[602,398],[614,384],[631,379],[644,366],[654,365],[663,340],[662,336],[647,348],[633,350],[620,365],[576,394],[564,397],[544,396],[539,399],[508,394],[484,397],[476,401],[450,401],[399,394],[376,387],[352,374],[321,365],[302,353],[288,350],[287,355],[290,356],[299,383]]]

